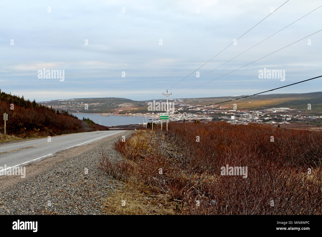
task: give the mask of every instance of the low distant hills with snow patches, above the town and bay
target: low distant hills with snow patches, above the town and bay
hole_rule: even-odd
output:
[[[175,96],[175,95],[173,95]],[[177,108],[180,104],[204,105],[214,104],[229,99],[237,99],[240,96],[221,96],[206,98],[183,98],[171,99]],[[169,97],[170,99],[170,97]],[[126,98],[105,97],[105,98],[74,98],[65,100],[52,100],[40,102],[43,105],[52,106],[61,110],[67,110],[73,113],[146,113],[147,101],[134,101]],[[156,100],[159,101],[159,100]],[[163,100],[165,101],[165,100]],[[88,104],[88,109],[85,109]],[[237,104],[239,110],[260,110],[272,107],[289,107],[293,109],[307,109],[311,104],[312,111],[322,111],[322,92],[312,92],[303,94],[268,94],[255,95],[246,99],[240,99],[229,103],[221,104],[225,107],[232,108]]]

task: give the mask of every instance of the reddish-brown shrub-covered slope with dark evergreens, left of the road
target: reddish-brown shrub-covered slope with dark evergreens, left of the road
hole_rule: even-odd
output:
[[[92,121],[91,124],[82,121],[66,111],[60,112],[35,100],[31,102],[0,90],[0,114],[4,113],[8,114],[6,134],[20,138],[108,130]],[[4,123],[0,123],[0,133],[4,133]]]

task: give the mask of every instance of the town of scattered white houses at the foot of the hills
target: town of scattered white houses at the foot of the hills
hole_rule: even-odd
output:
[[[152,122],[151,120],[153,117],[153,123],[162,122],[162,120],[158,119],[160,113],[128,113],[128,115],[147,116],[147,122]],[[321,126],[322,129],[322,115],[312,115],[309,113],[309,110],[300,111],[284,107],[247,111],[234,109],[231,110],[224,106],[195,107],[179,104],[178,108],[175,108],[169,112],[169,121],[225,121],[232,124],[267,123],[274,124],[276,126],[278,126],[278,124],[304,123]]]

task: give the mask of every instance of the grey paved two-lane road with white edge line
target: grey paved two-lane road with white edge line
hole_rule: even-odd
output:
[[[48,138],[31,139],[24,142],[11,142],[0,145],[0,172],[13,166],[25,166],[54,156],[55,153],[85,144],[123,131],[96,131],[74,133]]]

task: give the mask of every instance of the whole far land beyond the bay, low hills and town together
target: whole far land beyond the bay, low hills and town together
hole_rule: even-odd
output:
[[[169,99],[169,121],[177,122],[212,122],[225,121],[231,124],[263,123],[273,126],[288,128],[322,128],[321,92],[307,94],[269,94],[251,97],[237,104],[216,104],[203,106],[204,104],[218,103],[230,97],[211,98],[186,98]],[[166,100],[133,101],[126,98],[74,98],[41,102],[41,104],[60,111],[70,113],[86,113],[100,115],[125,115],[146,116],[144,121],[136,123],[139,126],[146,123],[161,123],[160,113],[165,113],[166,107],[149,111],[149,104],[165,104]],[[311,104],[313,108],[311,108]],[[276,105],[288,106],[276,106]],[[289,106],[291,105],[291,106]],[[274,107],[276,106],[276,107]],[[164,121],[163,121],[164,122]],[[134,124],[128,124],[134,125]],[[119,128],[133,126],[120,126]]]

